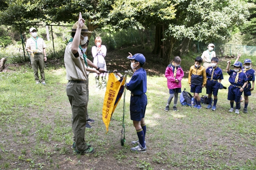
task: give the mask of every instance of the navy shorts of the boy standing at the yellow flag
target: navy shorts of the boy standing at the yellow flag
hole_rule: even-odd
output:
[[[130,99],[130,116],[131,120],[141,121],[145,117],[148,99],[146,94],[134,95]]]

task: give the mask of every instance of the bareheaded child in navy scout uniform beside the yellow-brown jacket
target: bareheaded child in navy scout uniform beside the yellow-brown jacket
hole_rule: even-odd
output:
[[[218,58],[212,57],[211,66],[206,69],[206,94],[208,94],[209,105],[207,109],[212,108],[212,111],[216,110],[216,104],[218,101],[218,89],[223,79],[223,74],[221,68],[218,67]],[[219,83],[218,83],[219,82]],[[213,94],[213,106],[212,106],[212,94]]]

